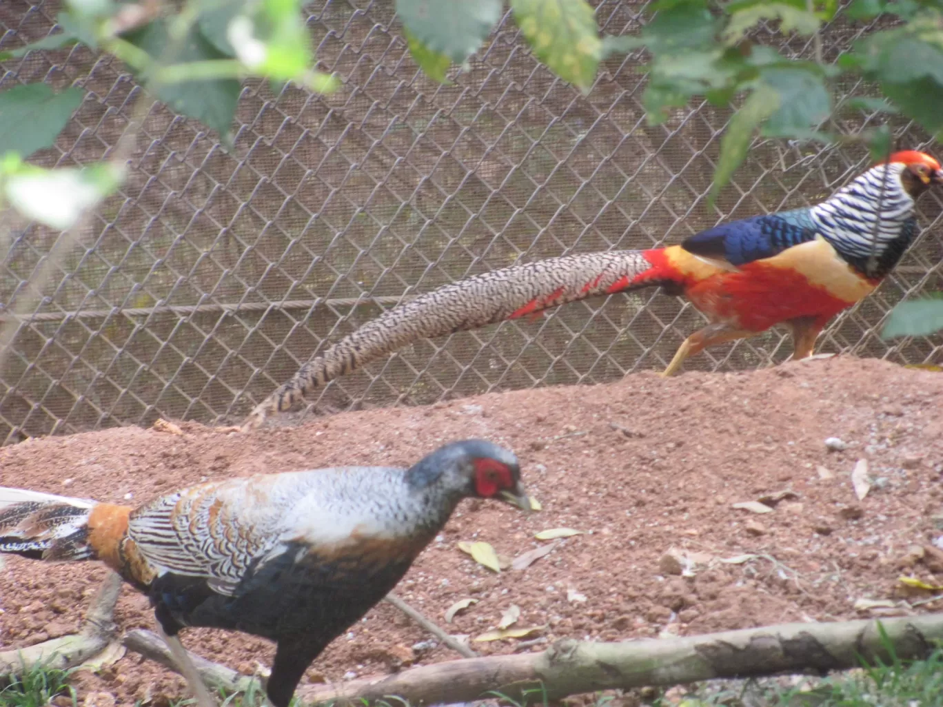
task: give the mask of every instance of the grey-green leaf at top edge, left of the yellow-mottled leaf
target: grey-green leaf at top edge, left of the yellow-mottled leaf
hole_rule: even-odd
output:
[[[396,14],[409,33],[456,64],[478,50],[501,11],[502,0],[396,0]]]

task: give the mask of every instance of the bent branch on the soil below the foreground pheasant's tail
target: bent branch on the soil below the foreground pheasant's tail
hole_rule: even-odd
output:
[[[91,600],[89,612],[78,633],[53,638],[24,649],[0,652],[0,678],[20,675],[40,665],[60,670],[80,666],[106,649],[117,632],[113,619],[121,584],[121,577],[117,574],[111,572],[108,575]]]

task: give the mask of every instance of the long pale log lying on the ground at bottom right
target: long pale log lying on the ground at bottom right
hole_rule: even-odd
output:
[[[943,615],[883,619],[902,659],[925,657],[943,640]],[[622,643],[557,641],[539,653],[498,655],[439,663],[395,675],[331,686],[305,686],[305,704],[404,699],[407,704],[468,702],[489,691],[513,700],[716,678],[746,678],[860,666],[859,656],[888,660],[875,620],[793,623],[744,631]]]

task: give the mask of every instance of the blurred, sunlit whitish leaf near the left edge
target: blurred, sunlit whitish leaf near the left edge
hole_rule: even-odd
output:
[[[4,181],[9,203],[27,218],[64,231],[118,189],[123,173],[109,164],[82,170],[25,166]]]

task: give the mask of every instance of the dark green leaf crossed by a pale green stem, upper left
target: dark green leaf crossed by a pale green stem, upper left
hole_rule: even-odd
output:
[[[158,19],[140,30],[128,34],[125,39],[146,52],[151,58],[162,63],[186,63],[227,58],[194,27],[183,42],[183,48],[176,57],[164,57],[169,45],[166,19]],[[235,78],[207,79],[200,81],[182,81],[173,84],[161,84],[142,76],[144,85],[153,91],[157,98],[182,115],[196,118],[208,127],[217,130],[223,141],[229,140],[230,127],[236,113],[236,104],[240,95],[240,82]]]

